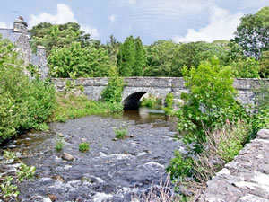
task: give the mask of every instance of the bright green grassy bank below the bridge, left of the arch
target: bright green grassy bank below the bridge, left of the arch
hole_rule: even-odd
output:
[[[85,95],[58,93],[57,107],[50,121],[65,122],[66,119],[81,118],[89,115],[99,115],[120,112],[121,104],[102,101],[91,101]]]

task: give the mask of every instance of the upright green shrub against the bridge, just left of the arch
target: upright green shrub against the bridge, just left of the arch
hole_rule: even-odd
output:
[[[118,76],[117,68],[112,67],[109,71],[108,86],[101,93],[103,101],[120,103],[124,89],[124,80]]]

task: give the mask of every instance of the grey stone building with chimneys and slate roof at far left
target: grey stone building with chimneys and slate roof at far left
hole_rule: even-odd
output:
[[[48,77],[46,48],[38,46],[37,54],[32,53],[27,27],[27,22],[24,22],[23,18],[19,17],[14,22],[13,29],[0,28],[0,34],[3,39],[10,40],[16,46],[16,50],[20,53],[26,66],[30,63],[38,66],[41,78],[46,78]]]

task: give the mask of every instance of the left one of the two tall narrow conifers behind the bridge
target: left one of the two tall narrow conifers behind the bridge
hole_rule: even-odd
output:
[[[126,38],[125,42],[120,46],[117,56],[117,67],[119,75],[132,76],[135,62],[135,46],[134,38],[130,36]]]

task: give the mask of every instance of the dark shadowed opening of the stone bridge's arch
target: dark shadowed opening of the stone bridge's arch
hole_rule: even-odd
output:
[[[138,110],[140,99],[147,92],[134,92],[123,101],[124,110]]]

